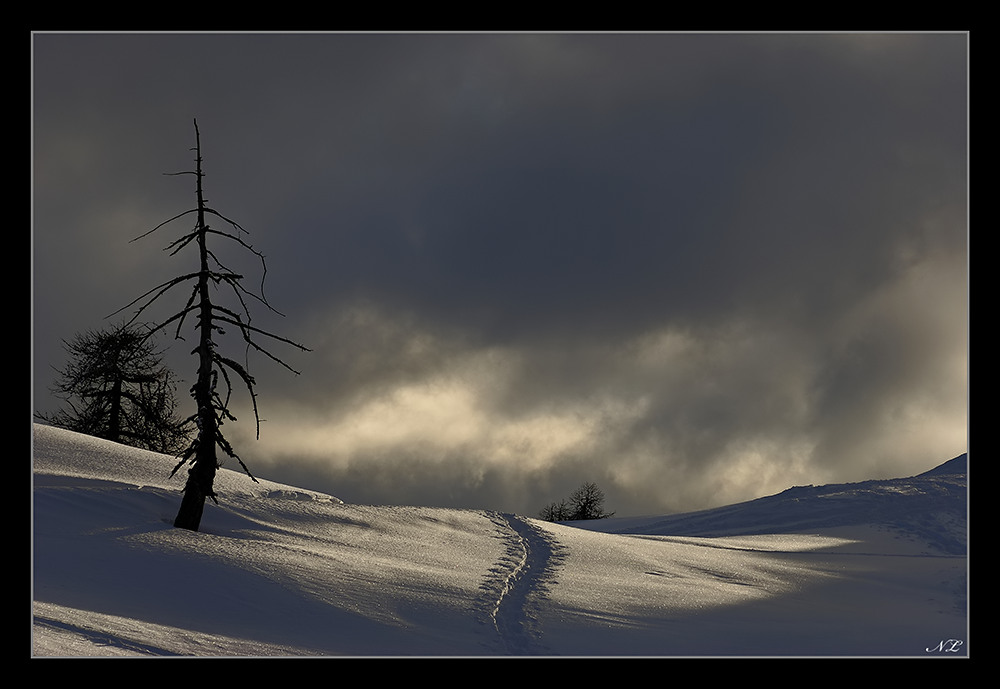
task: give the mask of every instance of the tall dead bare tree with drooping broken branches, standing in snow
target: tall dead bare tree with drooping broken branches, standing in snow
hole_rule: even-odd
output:
[[[235,359],[223,355],[216,346],[215,336],[224,335],[227,327],[235,328],[242,336],[245,343],[246,355],[249,358],[251,350],[259,352],[271,360],[277,362],[292,373],[298,371],[292,369],[288,364],[274,356],[265,347],[259,344],[259,338],[265,337],[270,340],[285,343],[303,351],[309,351],[306,347],[293,342],[284,337],[279,337],[260,328],[251,325],[250,310],[247,307],[247,298],[256,300],[263,304],[268,310],[278,313],[267,302],[264,296],[264,277],[267,274],[267,265],[264,255],[253,248],[243,235],[247,231],[239,223],[230,220],[226,216],[211,208],[205,199],[202,186],[202,157],[201,157],[201,133],[198,130],[198,121],[194,121],[195,131],[195,169],[185,172],[169,173],[173,175],[194,175],[195,195],[197,205],[195,208],[179,213],[174,217],[165,220],[148,232],[136,237],[132,241],[137,241],[156,232],[168,223],[182,217],[194,215],[194,228],[171,242],[166,250],[170,255],[177,254],[181,249],[194,245],[198,251],[198,270],[185,273],[173,278],[153,289],[149,290],[139,298],[119,309],[118,312],[131,308],[137,304],[141,306],[132,317],[138,318],[157,299],[166,294],[169,290],[183,284],[192,284],[192,291],[187,299],[184,308],[170,316],[164,321],[154,325],[151,333],[163,330],[176,323],[175,337],[184,339],[181,336],[181,329],[189,315],[196,319],[195,330],[198,334],[198,344],[192,354],[198,357],[198,376],[191,388],[191,396],[195,400],[197,411],[190,417],[197,426],[197,435],[190,445],[180,453],[180,462],[174,467],[171,476],[177,472],[184,464],[190,463],[187,483],[184,486],[184,498],[181,507],[174,519],[174,526],[183,529],[197,531],[201,524],[202,512],[205,507],[205,499],[212,498],[216,503],[216,494],[213,489],[216,469],[219,462],[216,454],[216,447],[220,448],[227,456],[237,460],[247,475],[255,482],[257,479],[247,468],[243,460],[236,454],[232,446],[222,434],[222,425],[226,421],[235,421],[236,418],[230,413],[229,402],[232,393],[232,379],[230,374],[241,380],[246,386],[250,400],[253,403],[254,419],[257,423],[257,437],[260,438],[260,415],[257,409],[257,393],[255,381],[250,375],[246,363],[240,363]],[[209,217],[215,218],[223,223],[224,229],[217,229],[208,223]],[[261,284],[259,293],[247,290],[243,286],[243,276],[233,272],[219,260],[216,253],[209,248],[209,237],[218,240],[229,240],[235,242],[240,247],[249,251],[260,262]],[[232,292],[239,306],[229,308],[212,301],[212,289],[228,288]],[[118,313],[116,312],[116,313]],[[113,315],[113,314],[112,314]],[[279,314],[280,315],[280,314]],[[225,384],[225,394],[220,391],[220,378]]]

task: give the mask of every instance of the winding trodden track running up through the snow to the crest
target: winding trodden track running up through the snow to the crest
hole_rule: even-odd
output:
[[[488,622],[505,651],[512,655],[544,655],[534,611],[548,592],[562,547],[550,534],[524,517],[487,512],[497,525],[505,553],[480,588]]]

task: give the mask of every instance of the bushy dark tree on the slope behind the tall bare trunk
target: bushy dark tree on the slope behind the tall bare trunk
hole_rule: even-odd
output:
[[[69,361],[56,370],[52,392],[66,408],[38,419],[154,452],[177,454],[188,445],[190,424],[175,413],[174,374],[145,329],[88,330],[63,346]]]

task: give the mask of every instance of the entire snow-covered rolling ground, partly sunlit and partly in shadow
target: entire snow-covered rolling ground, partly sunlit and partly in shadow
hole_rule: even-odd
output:
[[[223,469],[192,533],[171,526],[172,458],[33,437],[38,656],[968,652],[957,459],[575,525],[348,505]]]

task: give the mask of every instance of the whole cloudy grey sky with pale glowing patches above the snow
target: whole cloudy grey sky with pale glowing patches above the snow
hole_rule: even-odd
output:
[[[196,118],[284,314],[255,322],[312,349],[251,360],[261,438],[228,436],[259,476],[524,514],[594,481],[624,516],[967,449],[967,35],[39,33],[32,61],[35,409],[61,340],[196,269],[163,251],[187,221],[130,242],[193,207],[164,173]],[[192,341],[161,341],[185,412]]]

